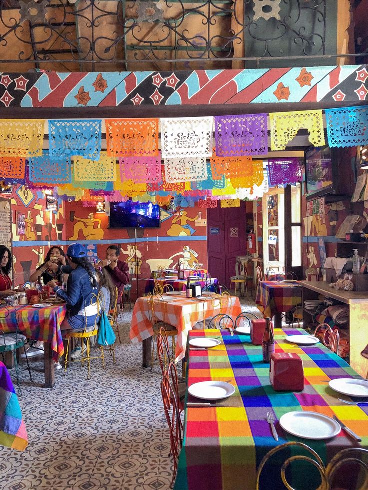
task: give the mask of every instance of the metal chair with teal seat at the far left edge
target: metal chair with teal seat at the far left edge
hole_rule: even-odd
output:
[[[5,352],[12,353],[14,359],[14,365],[15,365],[16,383],[18,385],[19,395],[22,395],[21,388],[20,388],[20,380],[19,380],[18,361],[16,359],[16,350],[21,349],[22,347],[24,348],[26,337],[25,335],[18,333],[19,313],[17,309],[12,305],[3,305],[0,307],[0,318],[7,318],[9,315],[11,315],[11,313],[15,313],[16,330],[15,332],[11,332],[11,333],[5,333],[0,330],[0,354],[2,354],[2,357],[4,358]],[[27,352],[25,349],[24,349],[24,353],[25,353],[25,359],[27,361],[29,378],[30,381],[33,383],[32,373],[30,372]]]

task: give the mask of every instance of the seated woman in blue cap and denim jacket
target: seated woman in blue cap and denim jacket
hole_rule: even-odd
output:
[[[98,315],[98,284],[96,271],[87,260],[87,252],[80,243],[72,243],[66,252],[68,265],[50,265],[54,272],[69,274],[67,291],[56,284],[55,280],[48,285],[54,288],[57,296],[66,302],[67,315],[61,323],[61,330],[93,330]],[[89,327],[89,328],[88,328]]]

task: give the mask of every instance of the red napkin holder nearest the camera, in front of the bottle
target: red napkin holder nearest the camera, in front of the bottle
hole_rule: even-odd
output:
[[[269,364],[269,380],[275,391],[304,389],[303,361],[291,352],[274,352]]]

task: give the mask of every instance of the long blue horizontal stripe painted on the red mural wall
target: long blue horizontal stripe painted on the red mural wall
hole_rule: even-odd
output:
[[[160,236],[158,237],[159,242],[197,242],[200,240],[207,240],[206,235],[198,235],[198,236]],[[115,240],[78,240],[78,243],[82,245],[103,245],[109,243],[147,243],[147,242],[157,242],[157,237],[150,236],[145,238],[124,238],[119,240],[116,238]],[[24,242],[13,242],[13,247],[31,247],[35,245],[70,245],[72,243],[70,240],[52,240],[52,242],[48,242],[47,240],[40,241],[24,241]]]

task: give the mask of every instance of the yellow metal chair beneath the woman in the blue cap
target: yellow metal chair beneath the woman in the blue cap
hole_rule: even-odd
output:
[[[91,299],[91,304],[94,304],[93,299],[96,300],[97,310],[99,311],[100,310],[100,306],[99,306],[100,296],[94,295],[94,297]],[[71,331],[67,332],[67,334],[65,336],[65,338],[67,339],[67,346],[66,346],[66,353],[65,353],[64,376],[66,375],[68,364],[72,363],[72,362],[81,362],[82,366],[84,366],[85,362],[87,363],[87,367],[88,367],[88,377],[87,378],[88,379],[91,378],[91,375],[90,375],[90,361],[91,361],[91,359],[102,359],[102,366],[103,366],[103,369],[105,369],[105,359],[104,359],[104,353],[103,353],[103,346],[98,345],[100,353],[101,353],[100,356],[91,356],[90,355],[90,339],[94,335],[98,334],[99,319],[100,319],[100,314],[98,313],[98,315],[96,316],[94,326],[89,327],[90,330],[87,330],[87,328],[88,328],[87,327],[87,320],[85,320],[84,330],[82,330],[82,331],[78,330],[76,332],[71,330]],[[69,346],[70,346],[70,340],[71,339],[80,339],[82,352],[81,352],[80,359],[70,359],[70,361],[69,361],[68,360],[68,354],[69,354]],[[86,342],[85,349],[84,349],[84,339]]]

